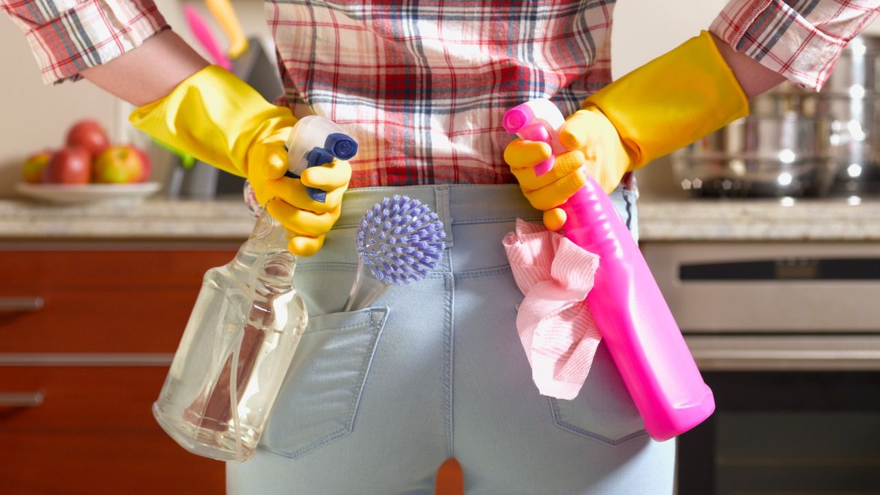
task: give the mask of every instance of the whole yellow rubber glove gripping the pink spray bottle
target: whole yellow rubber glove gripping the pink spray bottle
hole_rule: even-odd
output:
[[[611,192],[623,174],[748,115],[737,78],[705,31],[593,93],[581,107],[559,129],[561,144],[574,150],[556,158],[559,172],[534,175],[533,167],[550,156],[547,144],[517,139],[504,151],[551,230],[565,224],[555,207],[583,185],[583,174]]]

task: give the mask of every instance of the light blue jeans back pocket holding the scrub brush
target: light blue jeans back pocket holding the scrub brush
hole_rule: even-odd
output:
[[[309,319],[260,447],[295,459],[352,431],[387,316],[374,307]]]

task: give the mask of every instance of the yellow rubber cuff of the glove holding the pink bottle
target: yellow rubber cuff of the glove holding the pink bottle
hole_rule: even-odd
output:
[[[590,95],[582,108],[598,109],[614,124],[634,170],[748,115],[749,102],[702,31]]]

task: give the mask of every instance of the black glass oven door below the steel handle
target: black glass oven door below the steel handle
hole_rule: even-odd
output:
[[[678,438],[678,495],[880,494],[880,373],[715,371]]]

